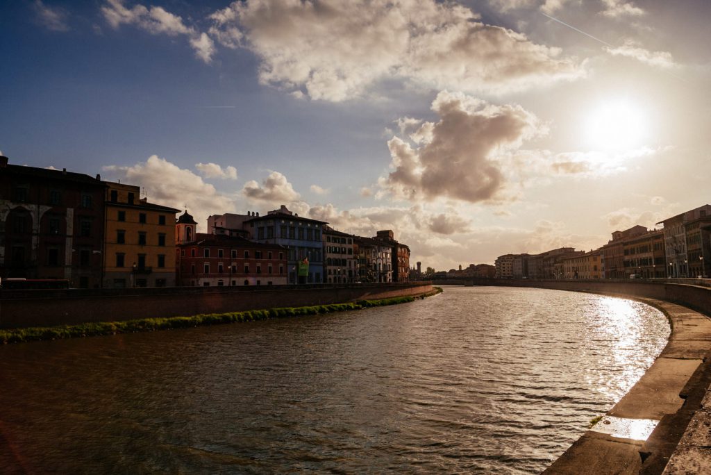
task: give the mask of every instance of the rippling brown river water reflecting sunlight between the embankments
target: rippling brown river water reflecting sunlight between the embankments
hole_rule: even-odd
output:
[[[447,287],[363,311],[7,345],[0,473],[538,473],[668,334],[636,301]]]

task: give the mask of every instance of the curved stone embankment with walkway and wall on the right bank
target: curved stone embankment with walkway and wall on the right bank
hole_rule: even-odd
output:
[[[711,319],[705,316],[711,315],[711,289],[652,282],[496,284],[632,297],[661,309],[672,326],[667,346],[636,385],[544,474],[711,473]]]

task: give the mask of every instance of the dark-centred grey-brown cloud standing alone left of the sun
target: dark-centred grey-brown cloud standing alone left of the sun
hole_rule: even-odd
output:
[[[545,133],[517,105],[491,105],[462,93],[440,92],[432,102],[440,119],[415,132],[417,146],[399,137],[387,143],[390,172],[380,186],[394,198],[454,198],[476,203],[501,198],[504,173],[497,154]]]

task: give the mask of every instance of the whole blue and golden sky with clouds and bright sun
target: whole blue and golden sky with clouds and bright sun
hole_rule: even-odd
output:
[[[711,2],[18,0],[0,152],[411,262],[592,250],[709,203]],[[199,229],[198,229],[199,230]]]

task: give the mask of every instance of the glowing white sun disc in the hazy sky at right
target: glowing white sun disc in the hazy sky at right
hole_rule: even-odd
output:
[[[587,145],[597,150],[635,149],[646,138],[646,118],[629,100],[609,100],[594,107],[584,124]]]

